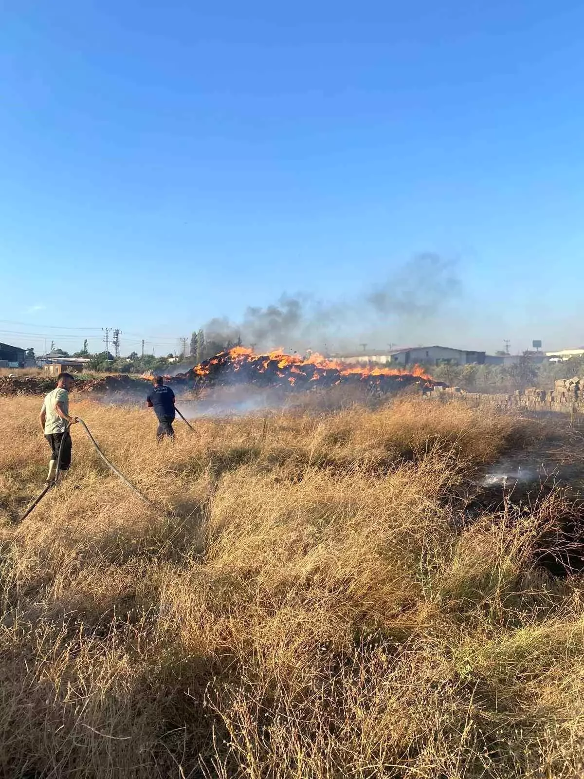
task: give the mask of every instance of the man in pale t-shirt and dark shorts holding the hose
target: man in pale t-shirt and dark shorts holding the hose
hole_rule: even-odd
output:
[[[59,373],[55,390],[45,396],[43,407],[40,409],[40,425],[51,447],[47,484],[55,481],[59,450],[61,450],[59,470],[68,471],[71,465],[72,445],[69,425],[74,425],[77,421],[76,417],[69,416],[69,390],[73,382],[74,379],[69,373]]]

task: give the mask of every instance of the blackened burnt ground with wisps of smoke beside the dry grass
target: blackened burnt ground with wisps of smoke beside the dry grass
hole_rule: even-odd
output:
[[[465,523],[485,511],[513,523],[537,516],[534,562],[554,576],[584,575],[584,418],[533,412],[541,435],[483,467],[463,499]]]

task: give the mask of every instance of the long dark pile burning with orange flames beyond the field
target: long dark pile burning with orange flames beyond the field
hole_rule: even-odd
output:
[[[270,354],[254,354],[251,349],[235,347],[195,365],[186,374],[174,377],[187,379],[193,389],[209,386],[248,384],[260,387],[276,387],[286,390],[311,390],[316,386],[360,386],[381,393],[396,392],[410,386],[429,390],[445,386],[434,382],[419,366],[412,372],[400,368],[366,368],[347,365],[339,360],[328,360],[321,354],[301,358],[296,354],[273,351]]]

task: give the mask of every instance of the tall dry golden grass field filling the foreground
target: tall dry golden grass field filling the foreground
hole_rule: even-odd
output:
[[[582,776],[584,588],[533,562],[554,492],[465,521],[550,431],[463,404],[180,421],[0,398],[2,777]]]

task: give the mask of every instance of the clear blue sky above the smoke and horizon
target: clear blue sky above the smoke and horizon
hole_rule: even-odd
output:
[[[432,251],[463,295],[412,340],[584,342],[582,3],[0,7],[0,340],[161,353]]]

